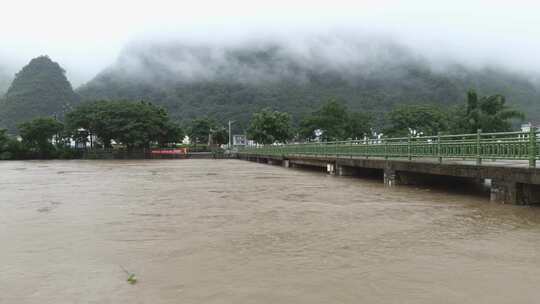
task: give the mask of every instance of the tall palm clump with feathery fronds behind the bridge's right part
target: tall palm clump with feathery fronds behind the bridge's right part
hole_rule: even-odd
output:
[[[467,93],[467,103],[451,113],[453,133],[504,132],[512,129],[512,121],[523,120],[525,115],[506,105],[502,95],[479,97],[476,91]]]

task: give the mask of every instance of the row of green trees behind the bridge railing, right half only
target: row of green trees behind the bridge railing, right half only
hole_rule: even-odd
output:
[[[288,141],[339,141],[374,136],[406,137],[443,134],[504,132],[524,114],[510,108],[502,95],[478,96],[471,90],[466,102],[448,109],[431,105],[400,105],[386,114],[382,127],[374,127],[369,113],[349,111],[344,102],[330,99],[293,127],[291,116],[269,108],[255,113],[248,138],[259,144]],[[381,124],[377,124],[381,125]]]

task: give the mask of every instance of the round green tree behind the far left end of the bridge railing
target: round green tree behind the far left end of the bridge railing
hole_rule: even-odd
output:
[[[291,116],[268,108],[253,114],[247,136],[257,143],[283,143],[292,137]]]

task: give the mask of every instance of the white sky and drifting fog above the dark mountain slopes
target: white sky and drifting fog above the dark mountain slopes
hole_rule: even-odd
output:
[[[22,0],[2,2],[0,9],[2,70],[13,74],[47,54],[74,86],[115,62],[140,65],[129,62],[137,52],[152,54],[150,60],[183,77],[212,77],[215,71],[197,50],[206,49],[215,67],[224,62],[224,50],[248,44],[286,46],[278,58],[344,71],[376,62],[381,45],[407,49],[384,60],[500,66],[531,77],[540,71],[540,4],[534,1]],[[152,52],[174,46],[191,51]],[[245,72],[246,79],[260,76]]]

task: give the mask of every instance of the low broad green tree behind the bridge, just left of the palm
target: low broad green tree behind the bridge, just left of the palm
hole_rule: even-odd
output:
[[[397,106],[388,114],[389,126],[384,134],[391,137],[436,135],[448,130],[448,115],[434,106]]]

